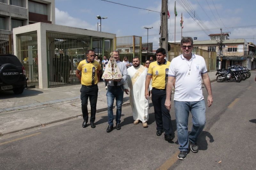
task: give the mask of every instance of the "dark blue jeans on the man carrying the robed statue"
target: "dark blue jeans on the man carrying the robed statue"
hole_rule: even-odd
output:
[[[108,124],[114,125],[114,115],[113,115],[113,104],[114,99],[116,98],[116,124],[121,122],[121,113],[122,113],[122,103],[124,98],[124,85],[120,86],[108,86],[107,91],[107,101],[108,101]]]

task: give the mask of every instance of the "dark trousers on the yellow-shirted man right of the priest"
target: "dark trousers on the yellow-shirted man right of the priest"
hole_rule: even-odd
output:
[[[172,135],[172,122],[169,110],[164,106],[166,99],[165,90],[152,89],[152,103],[155,111],[156,129],[164,130],[165,134]]]

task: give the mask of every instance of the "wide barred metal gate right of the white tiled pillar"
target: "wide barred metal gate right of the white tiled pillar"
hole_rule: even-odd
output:
[[[86,59],[86,51],[94,50],[101,58],[110,53],[112,39],[93,38],[46,32],[49,87],[79,84],[76,77],[78,63]]]

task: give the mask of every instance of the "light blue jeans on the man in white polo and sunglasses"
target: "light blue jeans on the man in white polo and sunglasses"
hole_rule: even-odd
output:
[[[188,151],[189,141],[193,144],[204,129],[205,125],[205,103],[204,100],[197,102],[174,101],[178,141],[180,151]],[[192,114],[193,127],[188,134],[188,115]],[[189,141],[188,141],[189,140]]]

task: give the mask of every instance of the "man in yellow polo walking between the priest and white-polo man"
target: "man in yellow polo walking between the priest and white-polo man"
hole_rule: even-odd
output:
[[[148,67],[148,73],[145,82],[145,97],[148,99],[148,86],[152,78],[151,100],[155,111],[156,135],[160,136],[164,131],[164,139],[169,141],[173,139],[172,122],[170,112],[166,109],[164,103],[166,99],[165,88],[170,62],[164,59],[166,56],[165,53],[166,52],[164,48],[158,48],[156,50],[157,61],[150,63]]]

